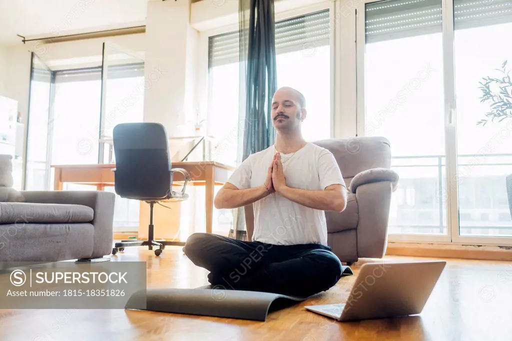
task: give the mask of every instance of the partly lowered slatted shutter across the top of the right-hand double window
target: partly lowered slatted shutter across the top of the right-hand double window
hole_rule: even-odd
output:
[[[385,0],[366,5],[366,42],[442,32],[441,0]],[[454,0],[455,29],[512,22],[511,0]]]

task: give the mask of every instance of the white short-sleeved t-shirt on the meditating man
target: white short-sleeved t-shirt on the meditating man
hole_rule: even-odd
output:
[[[263,185],[275,146],[245,159],[228,182],[239,189]],[[281,153],[286,185],[308,190],[324,190],[332,184],[345,187],[342,173],[332,153],[326,148],[307,143],[295,153]],[[274,245],[327,245],[327,224],[323,210],[295,203],[272,193],[252,204],[254,232],[252,241]]]

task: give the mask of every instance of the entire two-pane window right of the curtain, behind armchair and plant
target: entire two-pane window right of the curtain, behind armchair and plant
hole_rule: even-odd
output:
[[[364,133],[390,140],[400,176],[390,233],[401,240],[510,243],[512,82],[505,61],[512,62],[512,47],[503,32],[512,29],[512,3],[361,6]]]

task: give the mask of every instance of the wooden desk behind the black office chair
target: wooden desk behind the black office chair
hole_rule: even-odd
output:
[[[206,186],[206,232],[211,233],[214,215],[214,186],[223,185],[234,171],[234,167],[215,162],[173,162],[173,168],[184,168],[190,175],[188,184],[193,186]],[[93,185],[98,190],[104,190],[105,186],[114,185],[115,164],[87,164],[87,165],[52,165],[55,169],[54,189],[62,190],[65,182]],[[173,184],[179,185],[185,179],[181,173],[173,174]]]

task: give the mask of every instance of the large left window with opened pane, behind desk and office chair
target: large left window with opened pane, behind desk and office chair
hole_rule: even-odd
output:
[[[112,138],[121,122],[143,121],[143,62],[110,65],[105,116],[101,118],[101,67],[51,71],[33,57],[27,148],[26,189],[53,188],[52,164],[97,164],[102,138]],[[105,84],[105,83],[103,83]],[[112,145],[112,142],[110,142]],[[109,144],[105,147],[109,162]],[[95,186],[65,184],[65,190]],[[114,192],[113,187],[105,190]],[[138,230],[140,202],[116,197],[114,230]]]

